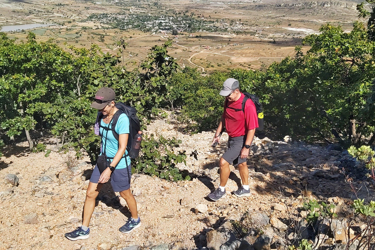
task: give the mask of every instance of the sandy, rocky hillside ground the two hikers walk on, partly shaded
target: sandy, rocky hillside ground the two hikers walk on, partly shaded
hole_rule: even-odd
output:
[[[0,180],[4,180],[0,184],[0,250],[220,249],[223,239],[212,232],[223,223],[239,221],[246,212],[247,216],[261,213],[271,219],[272,241],[277,241],[285,230],[278,226],[280,220],[291,214],[302,218],[300,208],[308,199],[341,205],[341,214],[345,214],[344,205],[354,193],[340,171],[343,167],[354,186],[369,186],[363,166],[337,146],[290,142],[288,137],[287,142],[255,138],[248,159],[252,196],[237,198],[230,193],[240,186],[239,172],[231,167],[228,195],[210,202],[205,197],[219,184],[218,161],[228,136],[224,134],[221,145],[212,148],[213,132],[182,134],[165,120],[157,120],[147,129],[145,133],[182,140],[180,147],[187,153],[197,150],[198,160],[187,157],[187,165],[179,165],[190,172],[192,180],[172,183],[134,174],[131,189],[142,225],[130,234],[118,230],[130,216],[124,200],[109,184],[104,185],[90,223],[90,238],[76,242],[63,235],[82,223],[93,169],[88,159],[75,161],[73,154],[56,152],[46,158],[44,153],[29,152],[26,143],[6,147],[0,162]],[[357,195],[365,198],[369,193],[373,191],[364,187]]]

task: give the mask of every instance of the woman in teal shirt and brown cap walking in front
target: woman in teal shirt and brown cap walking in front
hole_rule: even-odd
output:
[[[137,202],[130,192],[131,166],[126,150],[129,136],[129,118],[124,113],[121,113],[118,117],[114,129],[119,135],[118,140],[116,140],[111,130],[113,116],[116,112],[121,112],[115,106],[115,99],[115,92],[111,88],[104,87],[98,90],[95,102],[91,104],[91,107],[98,109],[103,115],[99,121],[99,130],[102,137],[101,156],[98,158],[98,164],[94,167],[86,191],[82,226],[72,232],[65,233],[65,237],[69,240],[87,239],[90,236],[89,224],[95,208],[95,199],[103,184],[109,179],[111,180],[113,191],[120,192],[131,213],[131,217],[119,230],[129,233],[141,225],[141,219],[138,217]],[[94,129],[98,129],[98,127],[94,126]],[[104,161],[100,161],[101,159],[104,159]],[[110,160],[109,165],[107,164],[107,159]]]

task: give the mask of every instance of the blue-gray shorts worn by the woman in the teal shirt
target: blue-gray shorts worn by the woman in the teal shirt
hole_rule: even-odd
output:
[[[127,171],[129,170],[129,175]],[[90,182],[98,183],[100,178],[100,172],[97,165],[94,167],[94,171],[92,171]],[[115,192],[122,192],[130,188],[130,178],[131,178],[131,170],[128,167],[117,169],[113,171],[111,175],[111,186],[113,191]]]

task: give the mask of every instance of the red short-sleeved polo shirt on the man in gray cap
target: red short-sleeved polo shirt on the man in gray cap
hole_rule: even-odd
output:
[[[242,100],[245,95],[241,93],[240,99],[235,102],[228,102],[227,106],[235,109],[242,108]],[[242,111],[235,111],[224,106],[223,117],[225,119],[225,128],[230,137],[243,136],[249,130],[258,127],[258,115],[256,113],[255,104],[248,99],[245,104],[245,115]]]

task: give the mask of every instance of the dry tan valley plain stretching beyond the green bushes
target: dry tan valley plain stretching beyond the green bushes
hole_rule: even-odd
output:
[[[325,23],[350,30],[357,20],[354,1],[208,1],[208,0],[0,0],[0,25],[55,23],[55,26],[30,30],[40,41],[54,39],[62,47],[89,47],[98,44],[104,52],[117,53],[117,42],[125,38],[125,63],[136,67],[149,49],[173,39],[169,54],[181,66],[198,67],[204,73],[233,68],[263,69],[294,55],[294,47],[309,34],[319,32]],[[88,21],[91,14],[129,13],[182,15],[204,21],[221,20],[223,27],[238,27],[237,32],[164,32],[120,30],[107,24]],[[8,32],[11,38],[25,39],[27,31]],[[308,47],[303,48],[304,51]]]

